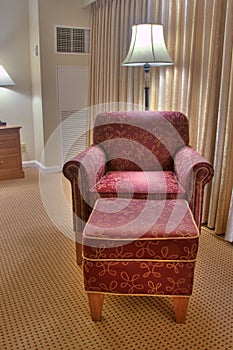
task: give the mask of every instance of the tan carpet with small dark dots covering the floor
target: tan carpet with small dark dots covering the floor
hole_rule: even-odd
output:
[[[25,170],[0,183],[1,350],[233,349],[230,243],[202,232],[186,324],[174,322],[169,298],[127,296],[106,296],[93,322],[74,242],[46,214],[37,170]]]

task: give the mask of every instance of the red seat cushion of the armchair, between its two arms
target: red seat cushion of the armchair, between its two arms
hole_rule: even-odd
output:
[[[172,171],[109,171],[90,190],[90,197],[185,199],[186,192]]]

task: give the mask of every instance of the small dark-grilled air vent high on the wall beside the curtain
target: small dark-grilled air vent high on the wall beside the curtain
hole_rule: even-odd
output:
[[[90,29],[56,26],[57,53],[90,53]]]

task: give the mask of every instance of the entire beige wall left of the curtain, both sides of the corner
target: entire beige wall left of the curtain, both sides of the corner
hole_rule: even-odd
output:
[[[0,64],[16,83],[0,88],[0,119],[22,126],[23,160],[40,162],[57,127],[56,67],[88,65],[88,56],[55,54],[55,25],[89,27],[90,8],[82,5],[82,0],[0,0]]]

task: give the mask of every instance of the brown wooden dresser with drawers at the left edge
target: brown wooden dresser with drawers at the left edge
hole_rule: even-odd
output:
[[[20,129],[17,125],[0,127],[0,180],[24,177]]]

